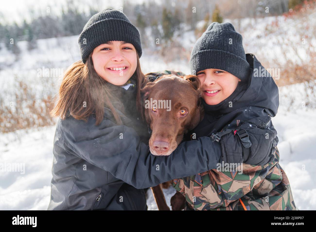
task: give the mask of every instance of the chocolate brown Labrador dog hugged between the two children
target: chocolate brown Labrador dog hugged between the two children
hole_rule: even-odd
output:
[[[196,76],[163,75],[142,89],[144,116],[152,130],[149,149],[153,155],[170,155],[189,130],[203,119],[200,82]],[[169,187],[172,181],[163,183]],[[160,185],[152,187],[159,210],[169,210]],[[181,210],[185,198],[176,193],[172,210]]]

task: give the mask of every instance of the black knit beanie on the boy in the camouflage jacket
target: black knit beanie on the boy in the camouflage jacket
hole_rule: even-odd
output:
[[[242,36],[231,23],[213,22],[195,43],[190,68],[191,74],[216,68],[246,80],[250,66],[242,46]]]

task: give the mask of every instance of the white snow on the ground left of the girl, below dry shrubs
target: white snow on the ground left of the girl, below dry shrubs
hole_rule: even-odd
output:
[[[52,179],[55,128],[1,134],[1,163],[22,163],[25,174],[0,171],[0,210],[46,210]]]

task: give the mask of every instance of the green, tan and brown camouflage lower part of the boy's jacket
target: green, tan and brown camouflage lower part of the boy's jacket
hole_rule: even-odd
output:
[[[279,159],[276,148],[274,160],[268,164],[243,163],[241,172],[212,169],[175,179],[173,187],[194,210],[296,210]]]

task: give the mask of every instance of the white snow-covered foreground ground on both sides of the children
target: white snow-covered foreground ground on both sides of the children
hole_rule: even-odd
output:
[[[316,111],[280,109],[272,122],[278,132],[280,165],[286,172],[295,205],[299,210],[316,210]],[[0,210],[46,210],[50,201],[53,137],[55,127],[0,135],[3,163],[21,164],[19,172],[0,172]],[[16,134],[20,139],[17,139]],[[25,169],[23,169],[23,164]],[[24,173],[24,174],[23,174]],[[164,189],[167,203],[175,193]],[[151,191],[149,210],[157,210]]]

